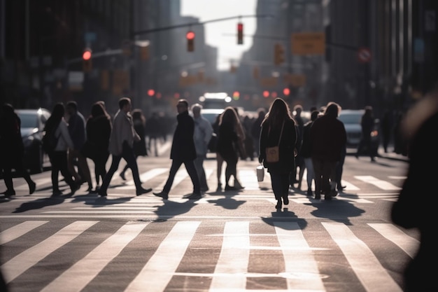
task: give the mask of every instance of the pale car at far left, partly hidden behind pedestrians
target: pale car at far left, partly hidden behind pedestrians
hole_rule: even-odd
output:
[[[42,148],[45,122],[50,117],[47,109],[16,109],[21,119],[21,136],[24,144],[24,165],[31,173],[43,172],[48,155]]]

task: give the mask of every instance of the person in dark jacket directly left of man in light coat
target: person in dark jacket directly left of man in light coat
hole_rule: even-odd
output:
[[[111,116],[100,102],[96,102],[92,105],[91,115],[87,120],[87,141],[93,145],[90,159],[94,162],[96,179],[96,189],[92,190],[92,193],[99,191],[100,179],[104,181],[106,162],[109,158],[108,146],[111,129]]]

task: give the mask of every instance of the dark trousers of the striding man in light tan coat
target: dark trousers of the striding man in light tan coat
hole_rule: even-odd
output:
[[[118,169],[120,160],[125,159],[128,167],[131,169],[132,178],[134,179],[136,190],[140,190],[142,188],[140,175],[139,175],[139,167],[137,166],[137,161],[135,159],[134,148],[129,147],[129,145],[125,142],[123,143],[123,150],[121,155],[113,155],[113,161],[111,162],[111,167],[105,175],[104,181],[102,181],[102,186],[100,191],[102,193],[106,193],[108,190],[109,183],[113,178],[115,171]]]

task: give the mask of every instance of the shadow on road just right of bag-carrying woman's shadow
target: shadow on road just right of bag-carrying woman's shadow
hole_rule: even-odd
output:
[[[332,200],[315,200],[310,199],[310,203],[307,205],[312,205],[316,209],[311,211],[311,214],[318,218],[327,218],[332,221],[344,223],[346,225],[351,225],[350,217],[362,216],[365,210],[355,207],[347,200],[337,200],[336,197]]]

